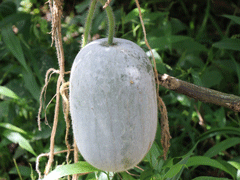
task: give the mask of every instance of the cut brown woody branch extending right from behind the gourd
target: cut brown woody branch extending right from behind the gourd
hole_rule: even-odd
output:
[[[201,87],[169,76],[167,74],[159,74],[158,79],[160,85],[171,89],[177,93],[185,94],[196,100],[212,103],[219,106],[240,112],[240,97],[233,94],[222,93],[213,89]]]

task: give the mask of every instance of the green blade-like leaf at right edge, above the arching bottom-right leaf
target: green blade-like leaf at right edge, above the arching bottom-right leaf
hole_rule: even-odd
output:
[[[218,144],[216,144],[215,146],[213,146],[212,148],[210,148],[205,154],[204,156],[206,157],[213,157],[215,155],[217,155],[219,152],[222,152],[232,146],[235,146],[237,144],[239,144],[240,142],[240,138],[229,138],[226,139]]]

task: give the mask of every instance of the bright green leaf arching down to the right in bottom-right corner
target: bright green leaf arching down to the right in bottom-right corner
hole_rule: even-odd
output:
[[[225,171],[226,173],[230,174],[232,177],[235,177],[234,174],[229,172],[228,169],[224,165],[219,163],[217,160],[214,160],[214,159],[211,159],[211,158],[205,157],[205,156],[190,157],[186,165],[187,165],[187,167],[191,167],[191,166],[211,166],[211,167],[214,167],[214,168],[221,169],[221,170]]]

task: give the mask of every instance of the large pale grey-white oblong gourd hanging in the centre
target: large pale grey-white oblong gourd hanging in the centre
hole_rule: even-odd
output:
[[[157,129],[152,65],[135,43],[107,38],[86,45],[70,76],[73,133],[84,159],[103,171],[136,166]]]

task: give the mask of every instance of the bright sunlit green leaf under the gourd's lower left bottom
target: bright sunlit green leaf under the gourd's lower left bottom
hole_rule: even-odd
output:
[[[94,171],[99,171],[99,169],[93,167],[85,161],[80,161],[75,164],[68,164],[57,167],[52,172],[50,172],[43,180],[53,180],[67,175]]]

